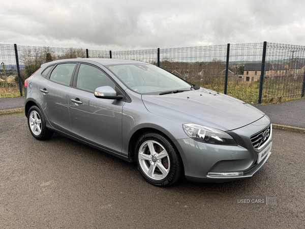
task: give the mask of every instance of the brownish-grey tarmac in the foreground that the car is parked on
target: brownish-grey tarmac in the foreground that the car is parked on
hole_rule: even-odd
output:
[[[304,228],[304,139],[273,130],[252,178],[161,188],[135,163],[57,134],[36,140],[24,113],[3,115],[0,228]]]

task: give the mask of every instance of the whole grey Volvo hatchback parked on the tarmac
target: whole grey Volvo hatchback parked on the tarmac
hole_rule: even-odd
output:
[[[25,80],[25,116],[36,139],[56,132],[136,161],[160,186],[252,177],[271,154],[263,112],[138,61],[43,64]]]

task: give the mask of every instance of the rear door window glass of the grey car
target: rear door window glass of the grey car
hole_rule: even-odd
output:
[[[70,85],[71,76],[76,64],[57,65],[51,73],[50,80],[64,85]]]

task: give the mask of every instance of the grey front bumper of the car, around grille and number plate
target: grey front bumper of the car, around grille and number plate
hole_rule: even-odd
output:
[[[185,167],[185,175],[192,182],[226,182],[252,177],[270,157],[271,152],[257,164],[258,154],[271,144],[272,134],[264,147],[254,149],[250,136],[270,125],[266,116],[245,127],[228,131],[237,146],[204,144],[191,138],[177,139],[176,146]],[[234,174],[241,174],[234,176]],[[223,173],[230,176],[217,176]],[[209,174],[214,176],[209,176]]]

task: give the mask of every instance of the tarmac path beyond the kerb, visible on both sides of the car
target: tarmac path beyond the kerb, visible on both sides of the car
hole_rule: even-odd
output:
[[[263,111],[273,124],[305,128],[305,98],[277,104],[251,105]],[[24,107],[24,97],[0,98],[0,110],[22,107]]]

